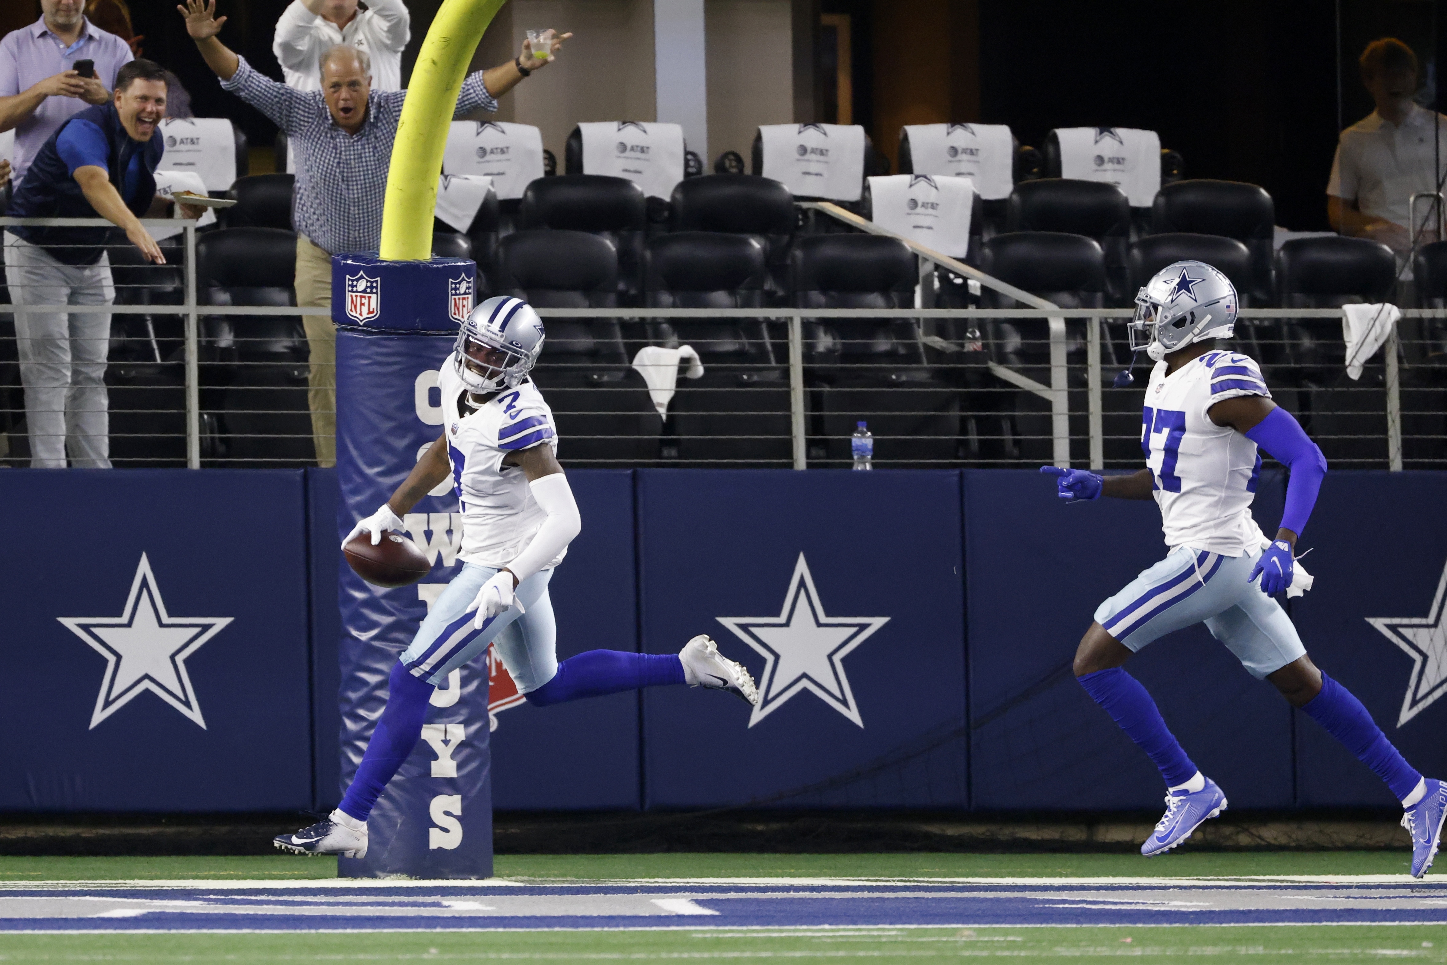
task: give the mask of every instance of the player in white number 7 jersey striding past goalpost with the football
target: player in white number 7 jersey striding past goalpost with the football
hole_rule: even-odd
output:
[[[438,372],[441,437],[392,498],[341,541],[369,532],[376,545],[451,476],[462,508],[463,569],[392,667],[386,707],[341,804],[326,820],[279,835],[282,851],[366,855],[368,815],[421,739],[433,690],[488,644],[537,706],[658,684],[726,690],[758,703],[748,671],[719,655],[705,635],[679,654],[590,650],[559,663],[547,586],[582,521],[557,464],[553,412],[528,378],[543,336],[543,321],[518,298],[489,298],[473,310]]]

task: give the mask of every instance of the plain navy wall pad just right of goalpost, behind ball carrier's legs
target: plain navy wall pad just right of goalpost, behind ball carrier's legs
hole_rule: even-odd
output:
[[[557,655],[637,651],[632,473],[592,469],[567,476],[583,531],[548,584]],[[508,702],[493,680],[493,807],[638,807],[637,693],[534,707],[515,697]],[[511,683],[506,690],[512,692]]]

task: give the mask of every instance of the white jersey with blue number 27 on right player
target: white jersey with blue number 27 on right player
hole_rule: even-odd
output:
[[[1233,352],[1207,352],[1169,376],[1165,362],[1150,372],[1140,447],[1171,548],[1242,556],[1260,544],[1252,516],[1262,467],[1256,443],[1205,414],[1239,395],[1270,398],[1270,391],[1256,363]]]

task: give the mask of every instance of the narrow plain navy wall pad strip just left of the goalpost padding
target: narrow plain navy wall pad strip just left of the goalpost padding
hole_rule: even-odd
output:
[[[341,667],[337,642],[341,611],[337,606],[337,573],[346,566],[337,540],[336,469],[307,470],[307,540],[311,556],[311,702],[313,806],[327,813],[341,800]]]

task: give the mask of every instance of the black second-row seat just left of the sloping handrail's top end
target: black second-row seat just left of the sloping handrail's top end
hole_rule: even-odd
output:
[[[715,174],[680,181],[670,200],[670,231],[750,234],[764,247],[768,295],[783,299],[789,284],[789,243],[797,214],[794,195],[771,178]]]

